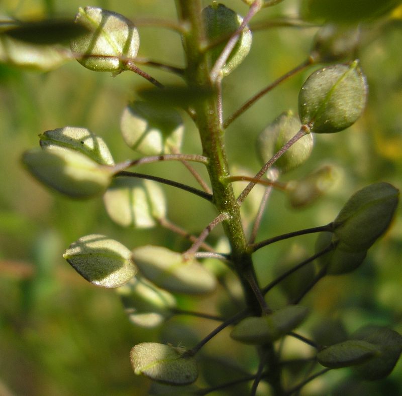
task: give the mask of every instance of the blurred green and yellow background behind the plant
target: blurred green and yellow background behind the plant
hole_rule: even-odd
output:
[[[222,3],[241,15],[247,13],[247,6],[240,0]],[[133,20],[145,16],[176,18],[172,0],[99,0],[87,4],[75,0],[3,0],[0,16],[73,17],[78,7],[86,5],[113,10]],[[286,0],[278,7],[263,10],[256,21],[280,15],[294,17],[298,9],[299,2]],[[358,54],[370,87],[364,116],[339,134],[316,136],[311,159],[286,176],[287,179],[297,178],[330,164],[339,176],[335,186],[315,205],[301,210],[292,209],[283,193],[275,191],[258,240],[332,221],[348,197],[371,182],[387,181],[402,187],[401,14],[397,9],[392,16],[364,30],[365,40]],[[306,60],[316,31],[317,28],[256,31],[249,56],[224,80],[225,115]],[[140,26],[139,33],[139,56],[183,66],[180,38],[176,33],[147,26]],[[275,88],[229,127],[226,142],[234,174],[243,174],[246,170],[253,175],[259,169],[254,151],[257,135],[282,111],[297,110],[298,89],[316,68],[318,66]],[[179,81],[157,69],[144,67],[144,70],[162,83]],[[187,243],[161,228],[122,229],[108,218],[102,198],[74,201],[51,193],[33,180],[20,162],[25,150],[38,145],[38,134],[66,125],[87,127],[102,136],[116,162],[137,158],[121,139],[119,118],[127,101],[138,97],[136,89],[147,86],[149,83],[135,74],[125,72],[113,78],[110,73],[86,70],[75,61],[48,72],[0,63],[2,396],[148,394],[149,382],[133,374],[129,351],[138,342],[157,340],[161,330],[131,325],[115,293],[97,289],[84,281],[63,260],[62,253],[72,241],[90,233],[109,235],[130,248],[152,243],[180,250]],[[186,124],[183,152],[200,153],[196,130],[185,113],[183,117]],[[156,164],[138,171],[153,172],[196,186],[180,164]],[[241,186],[236,184],[236,188]],[[169,218],[189,232],[199,232],[214,218],[208,203],[170,187],[165,190]],[[261,189],[256,188],[248,198],[244,210],[246,220],[247,211],[254,210],[260,194]],[[341,317],[349,331],[375,323],[402,333],[400,213],[399,208],[391,229],[370,249],[360,269],[349,276],[323,280],[306,299],[306,304],[314,307],[317,318]],[[217,240],[221,234],[220,229],[215,230],[212,240]],[[311,252],[314,240],[314,236],[305,236],[298,243]],[[289,243],[293,242],[280,242],[257,252],[256,267],[261,285],[272,279],[281,257],[289,250]],[[280,296],[272,298],[280,300]],[[213,298],[206,298],[192,301],[189,306],[199,305],[199,310],[215,312],[214,303]],[[166,342],[185,338],[184,334],[181,337],[180,329],[188,323],[186,318],[170,323],[170,338],[165,335]],[[213,328],[213,324],[203,320],[194,323],[195,339]],[[226,340],[218,337],[209,348],[224,356],[229,353],[225,343]],[[237,350],[233,353],[243,356],[243,360],[252,359],[252,355],[242,355]],[[380,384],[362,385],[369,389],[364,394],[384,394],[383,391],[401,394],[401,368],[399,362],[392,375]],[[347,370],[331,373],[316,381],[306,394],[324,394],[329,386],[347,375]]]

